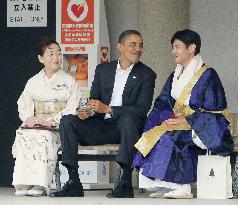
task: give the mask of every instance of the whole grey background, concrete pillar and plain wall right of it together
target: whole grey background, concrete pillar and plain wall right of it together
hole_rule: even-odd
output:
[[[155,70],[155,96],[174,69],[170,39],[176,30],[191,28],[202,38],[202,56],[213,66],[225,87],[229,108],[238,113],[237,0],[105,0],[111,58],[118,57],[116,43],[125,29],[144,37],[142,61]]]

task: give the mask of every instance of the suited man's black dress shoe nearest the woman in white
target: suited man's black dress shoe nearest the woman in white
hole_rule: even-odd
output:
[[[83,197],[83,186],[80,181],[69,180],[57,192],[49,194],[50,197]]]

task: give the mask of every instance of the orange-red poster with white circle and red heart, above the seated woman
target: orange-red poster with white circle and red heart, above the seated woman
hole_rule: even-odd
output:
[[[61,43],[94,43],[94,0],[62,0]]]

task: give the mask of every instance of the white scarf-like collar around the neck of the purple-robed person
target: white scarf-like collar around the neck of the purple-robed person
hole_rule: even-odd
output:
[[[187,67],[183,70],[180,64],[177,64],[174,72],[171,96],[176,100],[180,96],[183,88],[192,79],[194,74],[202,67],[203,60],[200,55],[196,55]]]

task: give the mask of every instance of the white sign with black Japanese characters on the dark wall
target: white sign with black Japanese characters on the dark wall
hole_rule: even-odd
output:
[[[47,0],[7,0],[7,27],[46,27]]]

